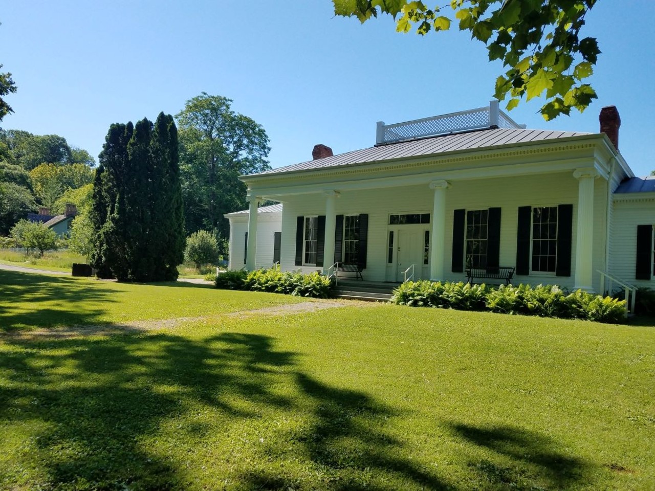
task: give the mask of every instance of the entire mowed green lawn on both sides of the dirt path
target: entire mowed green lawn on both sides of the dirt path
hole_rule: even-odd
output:
[[[22,331],[301,300],[0,285],[3,489],[655,488],[652,327],[353,304],[54,338]]]

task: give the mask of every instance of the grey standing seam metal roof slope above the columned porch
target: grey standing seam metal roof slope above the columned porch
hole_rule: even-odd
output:
[[[399,141],[398,143],[388,143],[387,145],[355,150],[340,155],[320,158],[318,160],[308,160],[307,162],[301,162],[300,164],[293,164],[291,166],[278,167],[244,177],[265,176],[303,170],[318,170],[352,164],[367,164],[396,158],[438,155],[445,152],[474,150],[496,147],[499,145],[511,145],[512,143],[547,141],[585,135],[591,135],[591,133],[494,128],[490,130],[447,134],[411,141]]]

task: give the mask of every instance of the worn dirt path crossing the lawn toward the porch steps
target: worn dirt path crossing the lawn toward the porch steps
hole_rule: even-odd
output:
[[[380,305],[378,302],[358,302],[356,300],[314,300],[312,302],[301,302],[297,304],[275,305],[271,307],[255,308],[251,310],[238,310],[236,312],[226,312],[225,314],[216,314],[214,316],[178,317],[172,319],[158,319],[149,321],[127,321],[120,324],[81,325],[51,329],[36,329],[34,331],[13,331],[9,333],[3,333],[3,335],[18,337],[22,339],[107,336],[117,333],[124,333],[125,331],[157,331],[159,329],[172,329],[187,322],[213,321],[223,318],[246,319],[258,316],[291,316],[294,314],[318,312],[328,308],[347,306],[371,308],[378,305]]]

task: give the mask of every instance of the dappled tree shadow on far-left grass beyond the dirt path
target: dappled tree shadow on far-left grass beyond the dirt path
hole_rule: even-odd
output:
[[[96,323],[111,289],[62,276],[0,271],[0,333],[33,326]],[[44,306],[43,302],[48,302]]]

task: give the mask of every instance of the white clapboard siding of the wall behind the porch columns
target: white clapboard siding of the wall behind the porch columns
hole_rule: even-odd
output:
[[[386,189],[341,192],[336,200],[337,215],[367,213],[368,254],[365,280],[385,281],[387,257],[388,215],[390,213],[432,213],[434,191],[429,183]],[[305,272],[320,268],[295,266],[296,219],[299,215],[325,215],[326,198],[320,194],[289,196],[282,213],[282,268]],[[578,180],[571,172],[535,176],[502,177],[470,181],[451,181],[446,191],[445,279],[465,280],[464,274],[451,272],[453,244],[453,211],[458,208],[483,209],[500,207],[500,266],[516,264],[516,232],[519,206],[573,205],[571,277],[548,274],[517,277],[515,283],[549,283],[573,287],[575,276],[576,213],[578,208]],[[593,269],[605,269],[605,220],[607,216],[607,181],[595,180]],[[432,224],[426,228],[432,227]],[[242,259],[242,258],[241,258]],[[326,263],[331,263],[326,258]],[[417,265],[418,266],[418,265]],[[429,268],[421,268],[426,275]],[[594,273],[594,286],[599,274]]]

